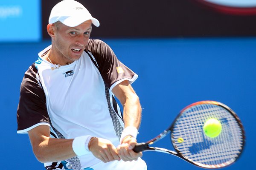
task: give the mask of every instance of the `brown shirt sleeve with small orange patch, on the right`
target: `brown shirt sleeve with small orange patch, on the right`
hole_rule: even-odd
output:
[[[90,39],[85,49],[89,50],[95,57],[99,65],[99,72],[111,90],[124,80],[133,83],[137,79],[138,75],[120,62],[110,46],[102,40]]]

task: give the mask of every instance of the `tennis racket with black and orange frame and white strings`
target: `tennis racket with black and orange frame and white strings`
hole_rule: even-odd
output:
[[[218,119],[221,133],[208,137],[203,130],[209,118]],[[150,147],[170,133],[175,151]],[[157,151],[175,155],[191,164],[204,168],[221,168],[234,163],[245,143],[244,128],[236,113],[215,101],[195,102],[180,111],[172,125],[145,143],[138,143],[135,152]]]

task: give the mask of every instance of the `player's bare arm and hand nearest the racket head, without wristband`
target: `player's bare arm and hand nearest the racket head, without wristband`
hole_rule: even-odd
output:
[[[125,80],[113,89],[113,94],[119,99],[123,106],[123,117],[125,128],[139,128],[141,122],[141,106],[140,100],[130,83]],[[119,157],[124,161],[137,160],[142,153],[135,153],[132,149],[137,144],[136,138],[132,134],[128,134],[121,139],[121,145],[117,147]]]

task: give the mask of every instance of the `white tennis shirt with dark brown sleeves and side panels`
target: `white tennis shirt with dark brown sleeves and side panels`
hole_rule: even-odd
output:
[[[117,146],[124,124],[111,90],[124,80],[134,82],[137,74],[123,65],[101,40],[89,40],[79,60],[55,70],[41,57],[50,48],[38,54],[38,60],[24,75],[17,108],[17,133],[48,125],[53,138],[90,135],[108,139]],[[99,162],[89,153],[46,163],[45,167],[80,170],[93,168]]]

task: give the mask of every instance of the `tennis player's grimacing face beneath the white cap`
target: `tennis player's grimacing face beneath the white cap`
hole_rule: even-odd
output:
[[[52,45],[63,62],[73,62],[81,57],[92,31],[91,20],[76,27],[68,27],[62,23],[55,26],[56,34]]]

